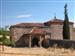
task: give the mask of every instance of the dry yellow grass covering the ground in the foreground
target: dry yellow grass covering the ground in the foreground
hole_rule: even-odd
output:
[[[75,56],[74,49],[64,48],[12,48],[4,47],[0,56]]]

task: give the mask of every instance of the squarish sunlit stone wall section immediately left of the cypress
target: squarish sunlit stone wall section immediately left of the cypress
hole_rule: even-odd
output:
[[[62,25],[51,25],[51,39],[63,39]]]

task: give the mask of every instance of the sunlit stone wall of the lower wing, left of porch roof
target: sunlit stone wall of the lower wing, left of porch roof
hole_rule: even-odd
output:
[[[11,28],[11,36],[14,41],[17,41],[23,34],[26,34],[30,31],[31,29],[28,28]]]

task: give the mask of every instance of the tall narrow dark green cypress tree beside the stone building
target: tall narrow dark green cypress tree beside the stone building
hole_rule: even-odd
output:
[[[63,39],[70,39],[69,19],[67,13],[67,4],[64,6],[64,23],[63,23]]]

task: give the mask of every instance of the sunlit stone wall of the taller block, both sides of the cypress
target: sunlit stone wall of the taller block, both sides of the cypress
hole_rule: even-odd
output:
[[[63,25],[51,25],[51,39],[63,40]],[[75,40],[73,25],[70,24],[70,40]]]

